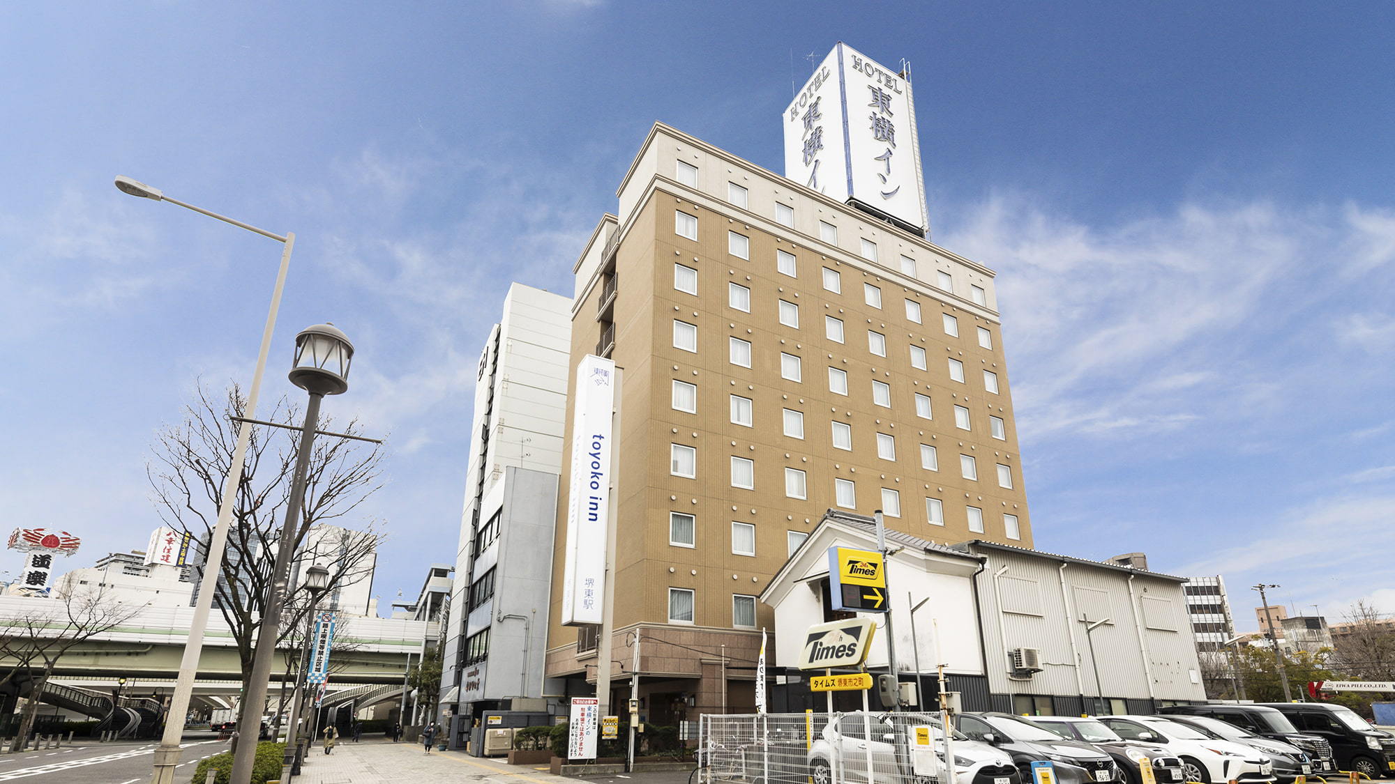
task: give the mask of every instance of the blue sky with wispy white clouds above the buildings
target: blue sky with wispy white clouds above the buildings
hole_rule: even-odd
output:
[[[806,54],[911,61],[933,239],[999,272],[1036,544],[1395,611],[1388,3],[43,3],[0,20],[0,508],[142,547],[155,431],[332,319],[391,434],[375,593],[455,551],[473,370],[649,126],[781,167]],[[17,569],[18,557],[4,568]]]

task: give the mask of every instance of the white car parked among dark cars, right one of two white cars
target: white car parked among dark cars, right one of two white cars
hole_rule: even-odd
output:
[[[1200,730],[1156,716],[1096,716],[1106,727],[1129,741],[1162,744],[1182,759],[1187,781],[1225,784],[1274,781],[1274,764],[1257,749],[1208,738]]]

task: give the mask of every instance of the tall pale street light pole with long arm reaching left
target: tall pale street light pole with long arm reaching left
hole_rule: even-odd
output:
[[[232,223],[239,229],[247,229],[255,234],[269,237],[282,243],[280,269],[276,272],[276,285],[271,294],[271,308],[266,311],[266,324],[262,326],[261,349],[257,352],[257,370],[252,371],[252,384],[247,389],[247,417],[257,416],[257,398],[261,395],[261,379],[266,370],[266,356],[271,353],[271,336],[276,331],[276,312],[280,310],[280,294],[286,289],[286,272],[290,269],[290,250],[296,244],[296,234],[286,232],[286,236],[273,234],[257,226],[233,220],[226,215],[209,212],[204,208],[186,204],[165,195],[159,188],[152,188],[145,183],[138,183],[130,177],[117,177],[116,187],[123,194],[153,201],[167,201],[173,205],[191,209],[199,215],[206,215]],[[155,766],[151,771],[151,784],[174,784],[174,766],[179,764],[179,742],[184,735],[184,717],[188,714],[188,702],[194,695],[194,678],[198,675],[198,660],[204,653],[204,632],[208,629],[208,615],[213,610],[213,589],[218,585],[218,572],[223,564],[223,550],[227,547],[227,529],[233,520],[233,504],[237,499],[237,488],[243,483],[243,466],[247,456],[247,445],[251,442],[251,423],[241,423],[237,430],[237,446],[233,449],[232,463],[227,466],[227,477],[223,480],[223,495],[218,504],[218,523],[213,525],[213,534],[208,541],[208,555],[204,561],[204,578],[198,586],[198,601],[194,605],[194,618],[190,622],[188,636],[184,642],[184,656],[180,658],[179,677],[174,681],[174,693],[170,696],[170,707],[165,721],[165,734],[160,745],[155,749]],[[212,579],[209,579],[212,578]],[[255,746],[255,744],[250,744]]]

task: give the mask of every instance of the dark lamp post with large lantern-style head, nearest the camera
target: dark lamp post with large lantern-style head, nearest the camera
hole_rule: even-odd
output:
[[[300,525],[300,506],[306,495],[306,472],[310,469],[310,453],[319,424],[319,402],[325,395],[343,395],[349,389],[349,364],[353,361],[353,343],[333,324],[307,326],[296,335],[296,359],[290,368],[290,382],[310,393],[306,405],[306,423],[300,428],[300,446],[296,452],[296,474],[290,484],[290,498],[286,501],[286,522],[280,530],[280,544],[276,548],[276,564],[271,572],[271,587],[266,596],[266,611],[262,614],[261,629],[257,632],[257,647],[252,650],[252,670],[247,684],[247,703],[243,707],[261,716],[266,704],[266,679],[271,677],[271,658],[276,651],[276,638],[280,635],[280,612],[286,601],[286,583],[290,573],[290,557],[296,550],[296,529]],[[257,744],[239,744],[233,753],[232,784],[250,784],[252,763],[257,759]]]

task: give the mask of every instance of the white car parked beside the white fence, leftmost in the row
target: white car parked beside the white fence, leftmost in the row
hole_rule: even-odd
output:
[[[908,764],[914,727],[929,725],[936,756],[944,760],[944,737],[937,716],[926,713],[840,713],[824,725],[809,749],[813,784],[838,781],[905,784],[914,781]],[[868,756],[872,770],[868,770]],[[954,732],[954,774],[958,784],[1021,784],[1011,757],[988,744]]]

